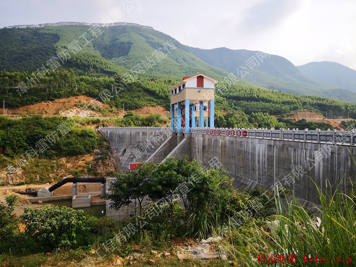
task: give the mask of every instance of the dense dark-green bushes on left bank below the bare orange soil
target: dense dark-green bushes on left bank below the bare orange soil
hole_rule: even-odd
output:
[[[36,157],[31,147],[38,156],[47,158],[91,153],[97,143],[94,130],[74,126],[72,120],[63,117],[1,117],[0,147],[4,149],[5,156],[15,158],[23,155],[25,159],[26,151]],[[41,140],[47,145],[39,142]]]

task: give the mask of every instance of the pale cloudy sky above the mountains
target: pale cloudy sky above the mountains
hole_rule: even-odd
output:
[[[356,70],[356,0],[0,0],[0,28],[59,21],[132,22],[184,45],[332,61]]]

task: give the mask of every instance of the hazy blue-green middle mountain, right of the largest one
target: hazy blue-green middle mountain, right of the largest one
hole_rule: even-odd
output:
[[[350,101],[350,98],[354,101],[355,98],[353,91],[337,89],[335,92],[336,85],[309,77],[292,62],[280,56],[225,47],[200,49],[186,46],[186,51],[212,66],[264,88],[274,87],[276,90],[299,95],[312,94],[345,101]]]

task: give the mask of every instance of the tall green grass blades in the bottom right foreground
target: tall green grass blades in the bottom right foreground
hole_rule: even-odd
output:
[[[277,215],[269,218],[277,220],[271,227],[257,226],[253,220],[247,220],[245,226],[230,231],[230,241],[226,249],[233,255],[240,266],[261,266],[257,255],[265,254],[265,264],[268,266],[334,266],[346,263],[346,258],[352,259],[350,265],[356,266],[356,194],[352,187],[349,192],[339,188],[330,193],[319,193],[321,205],[315,206],[313,214],[305,209],[293,194],[290,201],[283,206],[281,198],[276,197]],[[316,185],[315,185],[316,186]],[[328,192],[328,190],[326,190]],[[316,224],[318,216],[321,223]],[[247,226],[246,226],[247,225]],[[231,245],[232,244],[232,245]],[[286,262],[268,263],[268,255],[286,255]],[[296,254],[296,262],[289,263],[288,255]],[[308,262],[305,262],[305,257]],[[324,258],[324,263],[310,262]],[[337,262],[336,257],[341,257]],[[329,263],[326,263],[328,258]],[[284,260],[283,260],[284,261]]]

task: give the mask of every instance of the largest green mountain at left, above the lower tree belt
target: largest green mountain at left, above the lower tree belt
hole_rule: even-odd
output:
[[[32,72],[57,53],[78,45],[78,51],[70,53],[62,67],[74,68],[79,74],[94,71],[122,75],[133,69],[135,74],[183,77],[200,72],[220,81],[229,75],[152,28],[130,25],[95,28],[94,33],[90,32],[93,29],[90,25],[0,29],[0,51],[4,51],[0,53],[0,70]],[[244,79],[239,83],[254,86]]]

